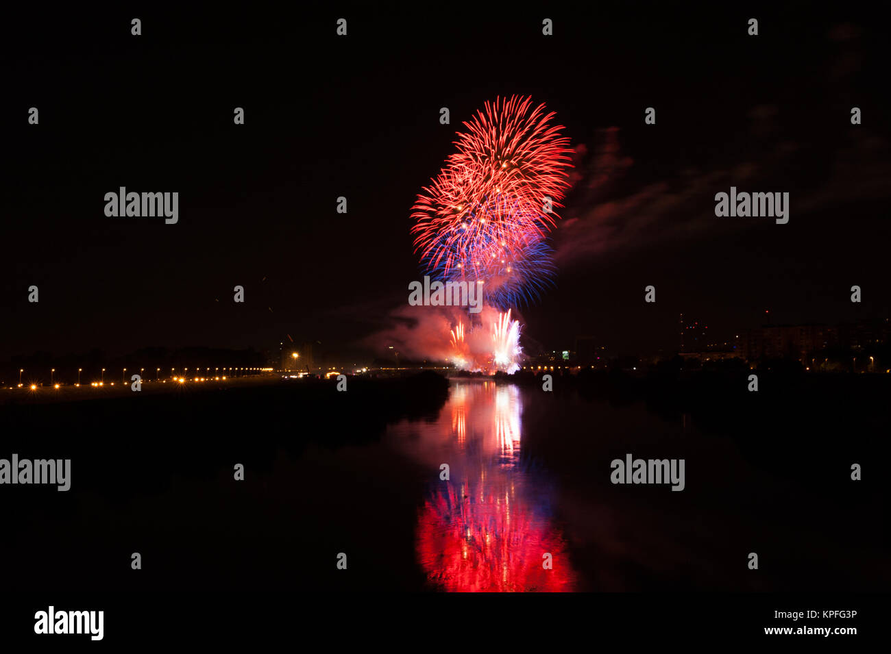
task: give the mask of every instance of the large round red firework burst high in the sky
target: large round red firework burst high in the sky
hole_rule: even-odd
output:
[[[517,262],[535,252],[568,188],[568,139],[531,98],[486,102],[458,133],[457,151],[412,207],[415,250],[446,278],[478,262]],[[551,212],[545,203],[551,205]]]

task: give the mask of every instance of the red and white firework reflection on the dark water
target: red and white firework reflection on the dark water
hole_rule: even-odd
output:
[[[447,591],[573,589],[546,491],[519,468],[520,411],[515,386],[462,384],[439,417],[439,429],[451,432],[457,474],[431,486],[419,513],[417,552],[429,580]],[[551,569],[544,568],[545,553]]]

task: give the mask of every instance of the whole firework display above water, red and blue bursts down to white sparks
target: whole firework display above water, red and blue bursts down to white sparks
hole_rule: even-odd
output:
[[[500,313],[491,326],[489,357],[469,351],[459,322],[452,333],[453,361],[469,370],[519,368],[519,322],[510,308],[533,299],[553,273],[547,233],[568,188],[568,139],[544,104],[531,98],[498,98],[458,133],[457,151],[412,207],[415,251],[440,281],[483,282],[483,302]],[[472,349],[471,349],[472,350]]]

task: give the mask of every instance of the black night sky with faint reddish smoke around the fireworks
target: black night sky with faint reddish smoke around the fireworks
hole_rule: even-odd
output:
[[[524,343],[568,349],[594,335],[616,352],[672,349],[679,311],[716,337],[889,315],[878,17],[807,5],[435,11],[10,14],[0,360],[262,350],[286,335],[371,357],[421,279],[415,196],[461,121],[515,93],[555,111],[578,150],[552,235],[556,286],[521,308]],[[647,107],[656,125],[644,125]],[[178,191],[179,222],[106,217],[103,196],[120,186]],[[715,193],[731,186],[789,192],[789,223],[716,218]],[[650,284],[656,304],[643,302]]]

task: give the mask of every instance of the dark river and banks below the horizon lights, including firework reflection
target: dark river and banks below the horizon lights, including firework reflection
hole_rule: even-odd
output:
[[[764,408],[766,394],[704,389],[681,412],[615,384],[351,384],[4,407],[2,456],[72,468],[66,493],[0,488],[4,579],[378,593],[880,591],[891,578],[882,393],[830,384],[828,400],[818,388]],[[611,483],[628,454],[683,458],[685,488]]]

